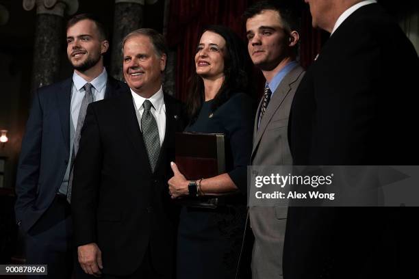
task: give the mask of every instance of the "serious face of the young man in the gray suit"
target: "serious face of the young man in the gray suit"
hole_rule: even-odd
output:
[[[281,16],[275,10],[263,10],[246,21],[247,48],[255,66],[273,70],[289,55],[288,38]]]

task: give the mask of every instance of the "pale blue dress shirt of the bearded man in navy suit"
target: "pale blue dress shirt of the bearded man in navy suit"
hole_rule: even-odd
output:
[[[93,101],[103,100],[105,98],[107,82],[107,72],[105,68],[101,72],[101,75],[90,81],[92,84]],[[71,88],[71,119],[73,120],[74,129],[77,129],[77,120],[79,119],[79,111],[81,107],[81,101],[83,101],[84,91],[83,86],[88,83],[84,78],[73,72],[73,86]]]

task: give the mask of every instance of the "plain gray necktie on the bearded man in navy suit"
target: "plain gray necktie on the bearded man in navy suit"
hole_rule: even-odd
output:
[[[87,107],[93,101],[92,84],[86,83],[83,86],[83,88],[84,88],[84,97],[80,105],[79,118],[77,118],[77,129],[74,135],[73,155],[71,156],[70,178],[68,178],[68,186],[67,186],[68,203],[71,202],[71,189],[73,188],[73,162],[74,162],[75,156],[77,155],[77,151],[79,150],[81,128],[83,127],[83,124],[84,124],[84,118],[86,118]]]

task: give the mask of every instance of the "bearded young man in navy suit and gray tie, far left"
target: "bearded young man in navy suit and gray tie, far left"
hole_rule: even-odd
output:
[[[36,90],[16,178],[16,222],[25,233],[26,263],[47,264],[47,278],[70,278],[73,269],[68,200],[87,104],[126,88],[103,67],[109,43],[94,16],[71,18],[66,33],[73,77]]]

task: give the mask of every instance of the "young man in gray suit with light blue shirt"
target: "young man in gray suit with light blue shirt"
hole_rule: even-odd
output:
[[[261,1],[244,13],[249,55],[266,78],[255,117],[251,165],[292,165],[288,118],[304,70],[295,61],[298,19],[283,1]],[[283,278],[287,207],[251,207],[253,279]]]

